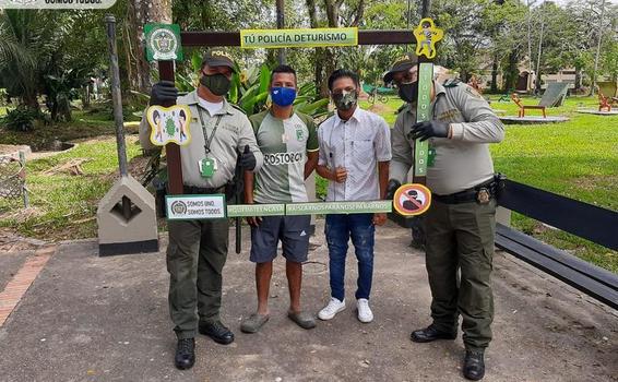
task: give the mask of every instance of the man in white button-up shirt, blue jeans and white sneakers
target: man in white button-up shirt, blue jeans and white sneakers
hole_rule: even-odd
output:
[[[337,112],[318,130],[320,155],[317,171],[329,180],[326,201],[375,201],[384,199],[391,160],[391,134],[384,119],[358,107],[358,75],[345,69],[329,77],[331,97]],[[358,260],[356,290],[358,320],[371,322],[369,294],[373,277],[376,227],[385,214],[326,215],[331,300],[318,317],[331,320],[345,309],[345,258],[348,241]]]

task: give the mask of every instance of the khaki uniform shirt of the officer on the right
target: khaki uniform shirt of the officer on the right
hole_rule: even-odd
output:
[[[472,87],[447,81],[433,82],[436,98],[431,103],[433,120],[449,122],[452,139],[431,138],[436,150],[432,165],[427,167],[427,186],[439,195],[471,189],[494,176],[489,143],[504,138],[504,127],[487,102]],[[408,139],[416,122],[416,104],[408,104],[397,116],[391,141],[393,159],[391,178],[402,183],[412,163],[414,141]]]

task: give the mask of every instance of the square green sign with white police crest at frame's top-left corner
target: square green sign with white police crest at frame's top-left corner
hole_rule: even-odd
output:
[[[144,36],[148,61],[182,60],[180,26],[178,24],[145,24]]]

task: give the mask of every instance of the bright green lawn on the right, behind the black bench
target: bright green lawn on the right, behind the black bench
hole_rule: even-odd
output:
[[[499,103],[489,96],[499,115],[516,116],[518,106]],[[537,105],[539,98],[524,97],[524,105]],[[396,97],[375,106],[361,107],[380,114],[389,124],[402,105]],[[596,108],[595,97],[569,97],[562,107],[547,109],[548,116],[566,116],[570,121],[557,124],[508,124],[506,139],[491,145],[497,171],[509,179],[551,191],[582,202],[618,211],[618,116],[605,117],[575,112],[579,107]],[[539,114],[535,110],[528,115]],[[318,192],[325,193],[319,179]],[[523,215],[513,214],[512,224],[528,235],[567,250],[596,265],[618,273],[618,252],[573,235],[543,226]]]

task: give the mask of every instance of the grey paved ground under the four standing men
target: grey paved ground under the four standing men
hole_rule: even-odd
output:
[[[421,253],[407,246],[405,229],[378,232],[372,323],[358,322],[350,303],[333,321],[298,329],[285,317],[278,259],[271,321],[254,335],[239,331],[255,306],[246,237],[224,276],[223,317],[237,339],[221,346],[200,336],[195,367],[183,372],[173,365],[163,252],[98,258],[96,241],[81,241],[0,253],[0,317],[14,305],[0,320],[0,381],[463,381],[461,336],[408,339],[429,323]],[[305,266],[304,302],[317,312],[329,283],[323,238],[314,240],[321,246]],[[355,276],[349,259],[349,302]],[[496,255],[494,286],[485,381],[618,381],[617,311],[503,253]]]

